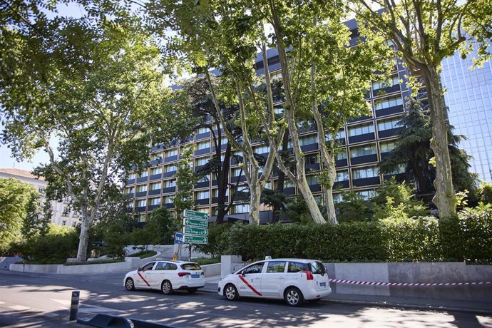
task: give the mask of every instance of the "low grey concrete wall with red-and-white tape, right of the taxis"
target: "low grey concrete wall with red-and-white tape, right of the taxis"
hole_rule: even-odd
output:
[[[492,282],[492,265],[464,262],[325,263],[332,279],[362,282]],[[367,286],[331,283],[339,294],[429,297],[492,302],[492,284],[465,286]]]

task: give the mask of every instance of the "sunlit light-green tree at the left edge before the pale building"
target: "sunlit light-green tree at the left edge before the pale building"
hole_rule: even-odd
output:
[[[21,237],[21,227],[37,192],[33,186],[12,178],[0,178],[0,250]]]

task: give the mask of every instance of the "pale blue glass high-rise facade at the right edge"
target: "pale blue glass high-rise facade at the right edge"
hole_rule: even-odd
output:
[[[457,52],[444,59],[441,81],[454,133],[467,138],[459,147],[472,156],[470,172],[492,183],[492,63],[471,69],[474,56],[463,60]]]

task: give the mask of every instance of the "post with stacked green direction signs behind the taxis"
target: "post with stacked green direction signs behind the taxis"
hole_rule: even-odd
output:
[[[208,244],[208,215],[194,210],[183,211],[183,242],[190,245],[188,260],[191,260],[192,244]]]

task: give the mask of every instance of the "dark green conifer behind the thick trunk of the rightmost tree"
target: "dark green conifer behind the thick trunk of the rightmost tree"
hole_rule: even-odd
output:
[[[432,126],[429,114],[423,110],[419,101],[410,98],[407,106],[409,111],[398,123],[402,128],[395,148],[388,157],[381,160],[379,169],[382,173],[389,174],[404,165],[406,179],[415,179],[419,183],[419,193],[428,195],[435,191],[432,181],[436,178],[436,168],[432,165],[434,151],[430,144]],[[473,193],[476,190],[476,174],[468,172],[471,168],[468,163],[470,156],[458,148],[458,143],[463,138],[463,135],[453,135],[453,127],[449,125],[447,139],[454,190],[468,190]]]

